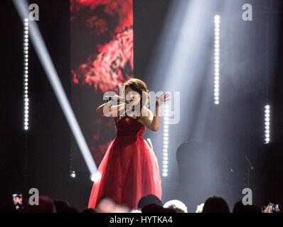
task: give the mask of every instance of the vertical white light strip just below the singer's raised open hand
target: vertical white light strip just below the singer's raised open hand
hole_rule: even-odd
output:
[[[163,160],[162,176],[168,176],[168,148],[169,148],[169,106],[164,105],[164,128],[163,128]]]

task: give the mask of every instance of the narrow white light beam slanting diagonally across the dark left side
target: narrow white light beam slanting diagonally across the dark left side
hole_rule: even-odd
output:
[[[13,0],[14,5],[16,6],[16,10],[18,11],[19,16],[23,18],[28,18],[28,3],[25,0]],[[36,21],[29,23],[29,33],[31,42],[33,43],[34,49],[38,55],[39,60],[41,61],[41,65],[43,66],[44,71],[48,77],[48,80],[57,96],[59,104],[65,114],[65,117],[68,120],[69,126],[73,132],[75,140],[78,143],[82,156],[85,159],[88,169],[90,170],[90,174],[94,175],[97,171],[97,167],[92,158],[89,148],[87,147],[87,143],[85,142],[85,138],[82,135],[82,131],[80,130],[80,126],[78,125],[78,121],[75,118],[75,114],[73,112],[72,107],[70,106],[70,102],[64,92],[63,86],[60,82],[58,74],[55,70],[53,62],[50,58],[46,45],[41,36],[41,32],[36,25]]]

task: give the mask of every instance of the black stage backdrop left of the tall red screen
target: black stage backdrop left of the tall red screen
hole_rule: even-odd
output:
[[[38,28],[70,98],[69,1],[33,1]],[[34,22],[30,22],[34,23]],[[12,192],[37,188],[52,198],[70,198],[70,128],[31,41],[28,50],[29,130],[23,131],[23,24],[12,1],[1,1],[1,204]],[[73,186],[75,187],[75,186]],[[86,193],[86,192],[85,192]]]

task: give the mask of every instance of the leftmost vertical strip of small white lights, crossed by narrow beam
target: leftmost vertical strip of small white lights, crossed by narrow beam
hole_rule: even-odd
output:
[[[23,20],[23,128],[28,130],[28,18]]]

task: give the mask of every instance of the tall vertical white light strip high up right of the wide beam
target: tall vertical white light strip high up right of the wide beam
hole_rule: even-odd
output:
[[[219,51],[220,50],[220,16],[214,16],[214,104],[219,100]]]

